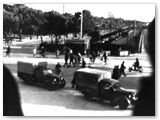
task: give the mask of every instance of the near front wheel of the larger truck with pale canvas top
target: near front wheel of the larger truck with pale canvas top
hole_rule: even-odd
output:
[[[118,106],[122,110],[127,109],[129,104],[130,104],[130,101],[126,97],[122,97],[118,100]]]

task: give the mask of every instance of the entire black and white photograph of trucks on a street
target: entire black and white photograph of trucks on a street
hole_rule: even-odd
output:
[[[155,3],[3,3],[3,116],[155,116]]]

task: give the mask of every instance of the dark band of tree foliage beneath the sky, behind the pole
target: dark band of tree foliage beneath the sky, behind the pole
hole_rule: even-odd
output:
[[[24,35],[66,35],[80,33],[81,12],[74,15],[60,14],[56,11],[42,12],[32,9],[24,4],[3,5],[3,31],[6,33],[19,33]],[[89,34],[93,41],[99,39],[102,30],[112,30],[133,25],[134,21],[121,18],[99,18],[83,10],[83,34]]]

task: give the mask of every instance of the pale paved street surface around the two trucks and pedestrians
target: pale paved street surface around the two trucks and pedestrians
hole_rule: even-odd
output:
[[[28,46],[27,46],[28,45]],[[19,44],[11,46],[11,57],[5,57],[3,54],[3,63],[11,70],[15,77],[21,96],[22,108],[25,116],[131,116],[133,106],[129,106],[127,110],[120,110],[117,106],[113,107],[107,101],[101,102],[98,100],[87,101],[83,95],[71,88],[71,80],[76,68],[62,68],[66,86],[63,89],[48,91],[44,88],[27,85],[17,77],[17,61],[47,61],[49,67],[53,67],[57,62],[64,64],[64,56],[56,58],[53,53],[49,53],[48,58],[34,58],[32,54],[33,46],[31,44]],[[4,46],[5,51],[5,46]],[[89,59],[83,56],[87,64]],[[128,68],[133,64],[135,58],[138,57],[140,65],[143,66],[143,72],[129,72]],[[97,58],[92,67],[103,68],[105,70],[113,70],[115,65],[121,65],[125,61],[126,75],[120,78],[120,83],[127,89],[138,91],[139,81],[141,77],[149,76],[152,72],[152,67],[149,58],[144,54],[135,54],[130,56],[109,56],[110,64],[104,65],[99,63]]]

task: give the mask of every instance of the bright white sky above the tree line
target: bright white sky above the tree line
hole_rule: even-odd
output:
[[[124,20],[139,20],[142,22],[151,22],[155,17],[155,4],[102,4],[102,3],[59,3],[59,4],[25,4],[33,9],[47,11],[57,11],[61,14],[81,12],[89,10],[93,16],[107,18],[109,12],[115,18],[123,18]]]

